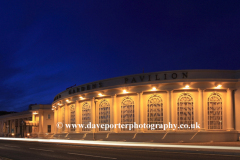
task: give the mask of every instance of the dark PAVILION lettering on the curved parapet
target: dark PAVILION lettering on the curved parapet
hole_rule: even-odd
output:
[[[188,78],[188,72],[179,73],[171,73],[171,74],[154,74],[154,75],[140,75],[131,78],[124,78],[125,84],[127,83],[137,83],[137,82],[146,82],[146,81],[157,81],[157,80],[169,80],[169,79],[177,79],[177,78]]]

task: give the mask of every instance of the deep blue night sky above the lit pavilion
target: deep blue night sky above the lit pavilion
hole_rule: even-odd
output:
[[[1,0],[0,15],[0,110],[143,68],[240,69],[239,0]]]

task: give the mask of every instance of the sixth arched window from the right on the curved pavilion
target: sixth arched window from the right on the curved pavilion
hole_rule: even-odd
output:
[[[82,131],[91,130],[91,128],[87,128],[87,125],[90,122],[91,122],[91,106],[88,102],[85,102],[83,103],[83,106],[82,106],[82,124],[84,125],[84,127],[82,128]]]

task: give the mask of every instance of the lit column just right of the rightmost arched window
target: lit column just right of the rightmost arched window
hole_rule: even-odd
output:
[[[227,90],[227,106],[226,106],[226,115],[227,115],[227,130],[234,130],[233,128],[233,89],[228,88]]]

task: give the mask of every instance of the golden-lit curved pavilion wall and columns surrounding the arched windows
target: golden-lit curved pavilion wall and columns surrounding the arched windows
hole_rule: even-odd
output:
[[[141,88],[137,88],[137,91],[141,90]],[[231,110],[231,103],[228,97],[228,91],[229,89],[205,89],[205,90],[199,90],[199,89],[178,89],[178,90],[171,90],[171,91],[147,91],[147,92],[132,92],[132,93],[119,93],[119,94],[113,94],[109,95],[107,91],[105,91],[104,94],[106,94],[106,97],[87,97],[87,100],[75,100],[76,97],[72,98],[71,104],[68,104],[67,102],[63,102],[63,106],[65,106],[65,123],[70,123],[70,106],[72,104],[75,105],[75,117],[76,117],[76,124],[82,124],[82,108],[83,104],[88,103],[91,107],[91,123],[92,124],[98,124],[99,123],[99,104],[102,100],[106,100],[110,105],[110,124],[118,124],[121,122],[121,105],[124,99],[130,98],[134,102],[134,121],[136,124],[143,124],[148,123],[148,100],[151,96],[159,96],[162,99],[163,103],[163,124],[168,124],[169,122],[172,124],[178,124],[178,99],[183,94],[188,94],[193,99],[193,124],[200,124],[201,130],[209,130],[208,128],[208,98],[212,94],[217,94],[222,99],[222,129],[217,130],[233,130],[231,126],[233,126],[233,121],[230,121],[229,123],[229,114],[231,118],[233,117],[233,112],[229,113]],[[134,91],[134,90],[133,90]],[[111,92],[109,92],[111,93]],[[96,93],[97,94],[97,93]],[[201,95],[202,94],[202,95]],[[231,99],[231,97],[230,97]],[[238,104],[236,104],[238,105]],[[239,109],[239,108],[238,108]],[[236,110],[238,112],[238,110]],[[57,122],[62,121],[62,107],[58,107],[57,110],[55,110],[55,117],[58,118]],[[203,124],[204,123],[204,124]],[[238,123],[237,123],[238,125]],[[197,129],[193,129],[197,130]],[[213,131],[214,129],[212,129]],[[215,131],[217,131],[215,130]],[[192,131],[192,130],[190,130]],[[75,131],[71,131],[70,129],[65,129],[65,131],[62,131],[61,129],[58,129],[58,133],[79,133],[79,132],[104,132],[99,131],[99,129],[91,129],[89,131],[83,131],[82,129],[76,129]],[[160,131],[152,131],[148,129],[134,129],[131,131],[122,131],[119,128],[111,129],[108,132],[116,132],[116,133],[126,133],[126,132],[132,132],[132,133],[139,133],[139,132],[162,132]]]

